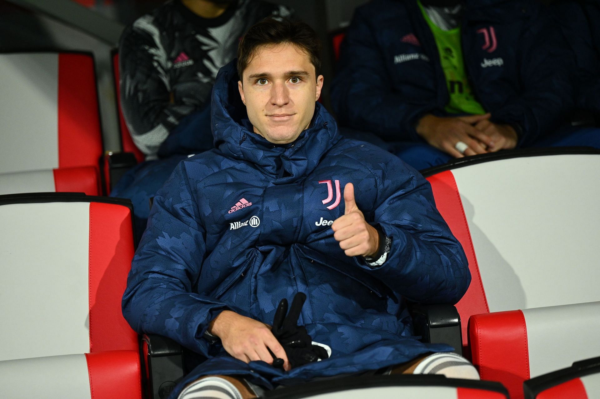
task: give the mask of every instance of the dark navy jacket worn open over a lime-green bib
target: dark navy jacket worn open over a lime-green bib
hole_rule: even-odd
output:
[[[560,30],[533,0],[466,0],[463,56],[476,99],[519,145],[551,133],[572,109],[572,61]],[[416,0],[373,0],[355,11],[332,83],[338,120],[391,141],[419,141],[427,113],[448,115],[448,89]]]

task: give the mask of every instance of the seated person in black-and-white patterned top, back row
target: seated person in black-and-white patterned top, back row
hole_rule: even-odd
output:
[[[130,170],[111,195],[133,201],[138,236],[146,227],[149,198],[179,161],[213,148],[212,85],[219,68],[235,58],[239,38],[267,16],[289,14],[286,7],[258,0],[174,0],[125,29],[121,106],[148,161]]]

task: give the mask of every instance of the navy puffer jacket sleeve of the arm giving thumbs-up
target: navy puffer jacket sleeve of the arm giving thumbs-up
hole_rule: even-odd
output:
[[[429,182],[394,158],[373,171],[378,194],[368,217],[392,239],[391,250],[379,267],[356,262],[411,301],[455,304],[471,280],[463,248],[437,211]]]

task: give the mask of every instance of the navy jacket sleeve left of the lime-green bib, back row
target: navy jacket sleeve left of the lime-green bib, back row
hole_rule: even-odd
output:
[[[338,119],[382,139],[420,141],[415,125],[437,108],[391,88],[391,77],[374,35],[375,26],[357,10],[341,49],[331,101]]]

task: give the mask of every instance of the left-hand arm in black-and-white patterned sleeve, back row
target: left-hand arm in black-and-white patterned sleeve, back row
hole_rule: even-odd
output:
[[[150,157],[179,121],[196,110],[173,101],[170,61],[160,34],[151,17],[144,16],[125,29],[119,44],[123,115],[133,142]]]

